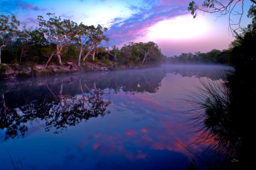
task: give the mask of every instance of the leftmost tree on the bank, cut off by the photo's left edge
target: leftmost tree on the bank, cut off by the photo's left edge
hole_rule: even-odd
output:
[[[18,26],[20,26],[20,21],[17,20],[16,15],[0,15],[0,64],[1,50],[10,45],[13,38],[15,37]]]

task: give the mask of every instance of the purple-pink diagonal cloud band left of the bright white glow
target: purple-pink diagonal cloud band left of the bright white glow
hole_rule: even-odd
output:
[[[123,45],[134,39],[144,37],[148,33],[148,28],[156,25],[160,21],[172,19],[174,17],[188,13],[188,2],[178,0],[169,1],[144,1],[147,8],[139,8],[140,12],[132,14],[130,18],[114,18],[111,22],[109,33],[115,40],[115,45]],[[130,5],[128,8],[135,9]]]

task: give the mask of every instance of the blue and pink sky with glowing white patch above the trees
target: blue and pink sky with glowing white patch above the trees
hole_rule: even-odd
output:
[[[228,29],[228,16],[197,12],[195,19],[187,10],[191,0],[0,0],[0,12],[17,14],[21,26],[38,26],[37,16],[46,13],[77,24],[98,24],[108,28],[110,44],[119,49],[129,42],[155,42],[167,57],[181,53],[228,49],[234,41]],[[199,5],[202,0],[195,0]],[[229,2],[223,0],[223,3]],[[240,3],[241,4],[241,3]],[[241,11],[241,5],[236,7]],[[251,22],[246,17],[252,3],[244,0],[242,27]],[[237,18],[232,18],[234,22]],[[236,28],[235,26],[233,27]]]

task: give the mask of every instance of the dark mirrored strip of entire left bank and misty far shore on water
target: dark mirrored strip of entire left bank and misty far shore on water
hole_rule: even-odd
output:
[[[45,131],[54,127],[54,133],[59,133],[67,130],[67,125],[75,126],[91,117],[109,114],[106,109],[112,102],[109,97],[111,90],[118,93],[121,89],[133,95],[137,92],[156,93],[168,72],[199,78],[211,76],[212,71],[209,67],[198,70],[196,67],[173,65],[154,71],[146,69],[121,74],[111,72],[96,76],[72,75],[50,80],[38,78],[2,82],[1,129],[7,129],[5,140],[24,137],[28,131],[24,123],[39,119],[45,121]],[[217,68],[218,71],[223,71],[223,68]],[[5,99],[4,95],[8,97]]]

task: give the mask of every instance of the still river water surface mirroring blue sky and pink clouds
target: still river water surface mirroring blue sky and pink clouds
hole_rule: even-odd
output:
[[[190,115],[176,99],[224,69],[164,65],[2,81],[1,169],[187,169],[195,156],[175,140],[188,146],[197,136],[180,123]]]

